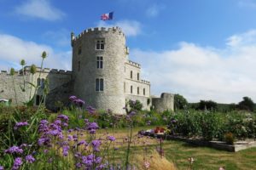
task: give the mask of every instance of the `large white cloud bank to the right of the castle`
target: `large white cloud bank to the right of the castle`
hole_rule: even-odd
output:
[[[256,101],[255,32],[228,38],[222,49],[181,42],[179,48],[162,52],[133,49],[131,56],[143,65],[153,94],[182,94],[190,102],[237,103],[243,96]]]

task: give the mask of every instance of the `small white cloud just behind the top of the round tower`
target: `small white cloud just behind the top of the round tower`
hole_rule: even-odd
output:
[[[120,20],[115,22],[114,24],[108,24],[106,21],[100,20],[97,23],[97,27],[113,27],[119,26],[124,32],[125,36],[133,37],[137,36],[142,31],[142,25],[136,20]]]

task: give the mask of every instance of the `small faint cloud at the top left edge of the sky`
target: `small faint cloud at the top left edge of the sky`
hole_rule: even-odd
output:
[[[61,20],[65,15],[60,9],[53,7],[49,0],[26,0],[15,8],[16,14],[43,20]]]

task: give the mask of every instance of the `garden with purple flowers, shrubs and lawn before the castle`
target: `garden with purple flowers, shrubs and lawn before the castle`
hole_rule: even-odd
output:
[[[45,56],[43,53],[42,65]],[[49,90],[44,88],[46,96]],[[70,105],[54,113],[44,107],[43,99],[37,107],[31,103],[32,99],[20,106],[0,104],[0,170],[256,167],[256,148],[231,153],[145,135],[149,132],[218,140],[230,145],[237,140],[255,140],[253,111],[218,111],[211,102],[207,108],[208,102],[202,110],[197,109],[200,105],[179,104],[176,111],[157,113],[143,111],[138,100],[129,100],[124,107],[126,114],[114,115],[110,110],[97,111],[86,101],[70,96]]]

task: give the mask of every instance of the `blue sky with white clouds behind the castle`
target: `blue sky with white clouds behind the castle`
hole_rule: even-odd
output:
[[[120,26],[152,94],[256,101],[255,19],[255,0],[0,0],[0,69],[38,65],[46,50],[45,67],[70,70],[71,31]]]

